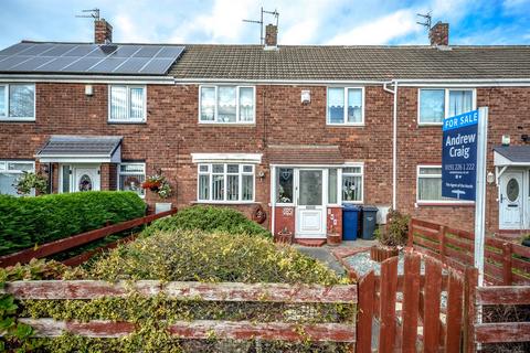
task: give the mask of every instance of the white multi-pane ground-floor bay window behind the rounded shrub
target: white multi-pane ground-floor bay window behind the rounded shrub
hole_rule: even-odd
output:
[[[254,165],[239,163],[201,163],[198,200],[203,202],[254,201]]]

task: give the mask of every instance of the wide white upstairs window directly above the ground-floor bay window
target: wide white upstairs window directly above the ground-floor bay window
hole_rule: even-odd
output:
[[[251,86],[201,86],[199,122],[254,124],[255,88]]]

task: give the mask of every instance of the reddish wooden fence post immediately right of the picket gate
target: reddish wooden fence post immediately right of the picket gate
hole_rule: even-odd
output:
[[[477,284],[478,270],[474,267],[466,267],[464,276],[464,353],[474,353],[476,350]]]

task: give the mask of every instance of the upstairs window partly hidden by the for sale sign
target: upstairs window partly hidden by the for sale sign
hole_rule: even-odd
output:
[[[473,89],[420,89],[420,125],[442,125],[444,118],[475,109]]]

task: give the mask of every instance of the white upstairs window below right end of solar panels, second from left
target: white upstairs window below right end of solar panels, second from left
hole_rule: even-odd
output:
[[[109,88],[110,122],[144,122],[146,121],[146,87],[117,86]]]

